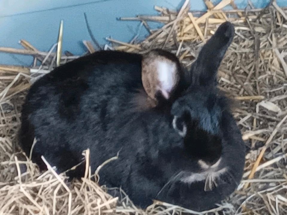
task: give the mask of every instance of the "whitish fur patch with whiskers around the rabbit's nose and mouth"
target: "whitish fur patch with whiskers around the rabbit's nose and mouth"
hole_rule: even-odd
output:
[[[219,160],[213,165],[208,165],[203,160],[199,160],[198,164],[201,167],[202,171],[196,172],[196,173],[190,173],[189,176],[182,178],[181,181],[184,183],[188,183],[188,184],[199,182],[199,181],[205,181],[206,185],[205,185],[204,190],[206,191],[211,190],[213,187],[213,184],[217,186],[216,178],[219,178],[219,176],[226,173],[228,170],[227,167],[219,168],[221,160],[222,158],[219,158]]]

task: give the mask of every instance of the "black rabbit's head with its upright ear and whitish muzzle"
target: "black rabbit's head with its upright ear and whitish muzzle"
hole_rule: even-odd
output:
[[[216,82],[233,36],[233,25],[221,24],[184,74],[186,86],[170,110],[172,127],[182,138],[174,145],[184,153],[175,160],[180,166],[178,175],[174,174],[156,199],[192,210],[209,210],[230,195],[242,178],[244,142]],[[185,162],[187,156],[195,162]]]

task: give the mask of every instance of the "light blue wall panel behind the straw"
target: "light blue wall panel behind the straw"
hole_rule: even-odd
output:
[[[91,30],[100,44],[111,36],[128,42],[136,33],[146,35],[137,21],[117,21],[122,16],[157,14],[154,5],[178,9],[184,0],[0,0],[0,46],[21,48],[26,39],[39,50],[47,51],[57,42],[60,20],[64,20],[63,50],[80,55],[85,51],[82,40],[91,40],[86,27],[87,14]],[[213,0],[214,4],[220,0]],[[269,0],[253,0],[255,7],[265,7]],[[235,0],[239,8],[247,0]],[[287,6],[286,0],[278,0]],[[191,0],[191,10],[206,10],[203,0]],[[153,24],[157,27],[159,24]],[[0,53],[0,64],[31,64],[32,57]]]

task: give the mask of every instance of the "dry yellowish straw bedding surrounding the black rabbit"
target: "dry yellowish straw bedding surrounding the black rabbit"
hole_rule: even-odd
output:
[[[212,212],[196,213],[162,202],[146,211],[132,205],[128,197],[113,198],[90,180],[88,166],[82,181],[65,181],[64,174],[49,170],[39,173],[35,164],[15,146],[21,104],[30,83],[77,58],[66,52],[40,52],[25,40],[24,49],[0,47],[0,51],[34,56],[31,68],[0,66],[0,214],[287,214],[287,10],[274,1],[263,10],[249,3],[237,10],[230,0],[215,7],[206,1],[206,13],[189,12],[185,1],[179,12],[155,7],[159,16],[122,18],[138,20],[150,35],[129,44],[107,38],[105,49],[144,53],[151,48],[164,48],[189,67],[204,41],[225,20],[235,25],[236,35],[219,68],[219,88],[238,103],[233,114],[241,128],[248,152],[244,178],[237,191]],[[231,4],[234,10],[221,9]],[[164,23],[152,30],[147,21]],[[59,41],[61,36],[59,36]],[[59,42],[61,44],[61,42]],[[95,48],[84,41],[89,52]],[[61,50],[59,46],[58,50]],[[41,66],[36,66],[41,62]],[[86,151],[85,156],[89,156]],[[21,173],[23,165],[27,172]],[[23,172],[23,171],[22,171]]]

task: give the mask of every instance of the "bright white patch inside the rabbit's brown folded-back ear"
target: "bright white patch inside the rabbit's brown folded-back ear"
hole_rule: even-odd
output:
[[[164,98],[170,98],[170,92],[176,84],[175,73],[177,73],[177,67],[174,62],[170,61],[158,61],[157,72],[159,86],[158,90],[161,91]]]

